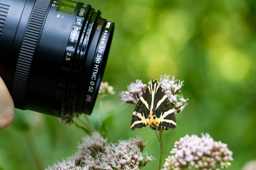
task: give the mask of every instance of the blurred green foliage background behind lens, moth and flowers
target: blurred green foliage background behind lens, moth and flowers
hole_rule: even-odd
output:
[[[171,72],[185,80],[182,94],[190,100],[176,116],[177,128],[164,133],[164,158],[181,137],[207,132],[234,152],[230,170],[256,159],[255,0],[82,2],[116,23],[103,78],[116,91],[103,102],[104,115],[113,116],[104,135],[109,142],[139,135],[148,141],[145,151],[158,159],[155,133],[130,130],[135,105],[121,105],[118,93],[136,79],[150,80],[139,73],[156,77]],[[95,126],[98,112],[97,102],[90,116]],[[46,167],[74,153],[84,135],[57,118],[16,110],[14,123],[0,131],[0,170],[37,169],[29,137]],[[152,161],[144,169],[157,169],[157,164]]]

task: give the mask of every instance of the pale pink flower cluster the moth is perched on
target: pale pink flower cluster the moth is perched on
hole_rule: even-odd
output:
[[[149,82],[150,84],[151,82]],[[177,95],[183,86],[184,81],[175,80],[173,76],[170,79],[170,75],[161,75],[160,84],[163,90],[165,91],[168,99],[173,108],[175,108],[176,113],[182,112],[189,99],[184,99],[183,95]],[[120,96],[123,102],[125,103],[137,103],[147,88],[146,84],[143,84],[141,80],[136,80],[135,83],[131,83],[127,86],[127,91],[120,92]]]

